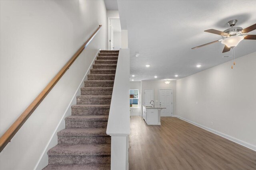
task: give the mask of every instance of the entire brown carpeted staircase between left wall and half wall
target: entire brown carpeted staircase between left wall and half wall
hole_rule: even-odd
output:
[[[88,80],[65,118],[58,145],[48,150],[44,170],[109,170],[111,137],[106,134],[119,51],[100,51]]]

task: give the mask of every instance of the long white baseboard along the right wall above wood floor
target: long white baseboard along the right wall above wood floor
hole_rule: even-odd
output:
[[[193,121],[190,121],[190,120],[188,120],[188,119],[185,119],[185,118],[183,118],[183,117],[180,117],[180,116],[178,116],[178,115],[173,115],[172,117],[177,117],[177,118],[179,118],[179,119],[181,119],[181,120],[184,120],[184,121],[186,121],[186,122],[188,122],[188,123],[191,123],[191,124],[193,124],[193,125],[196,125],[197,127],[200,127],[200,128],[202,128],[202,129],[204,129],[204,130],[206,130],[206,131],[212,132],[212,133],[214,133],[214,134],[216,134],[216,135],[219,135],[219,136],[221,136],[221,137],[224,137],[224,138],[226,138],[226,139],[228,139],[228,140],[230,140],[230,141],[232,141],[232,142],[234,142],[234,143],[237,143],[237,144],[242,145],[242,146],[244,146],[244,147],[246,147],[246,148],[249,148],[249,149],[252,149],[252,150],[256,151],[256,146],[255,146],[255,145],[252,145],[252,144],[247,143],[247,142],[245,142],[245,141],[242,141],[242,140],[240,140],[240,139],[236,139],[236,138],[234,138],[234,137],[232,137],[232,136],[226,135],[226,134],[224,134],[224,133],[221,133],[221,132],[216,131],[216,130],[214,130],[214,129],[211,129],[211,128],[209,128],[209,127],[205,127],[205,126],[203,126],[203,125],[200,125],[200,124],[198,124],[198,123],[195,123],[195,122],[193,122]]]

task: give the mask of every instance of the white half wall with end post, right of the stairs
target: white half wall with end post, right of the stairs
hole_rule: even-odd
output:
[[[128,170],[129,90],[130,49],[120,49],[107,126],[111,136],[111,170]]]

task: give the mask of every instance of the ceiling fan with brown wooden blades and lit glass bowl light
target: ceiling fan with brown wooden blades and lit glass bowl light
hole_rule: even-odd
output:
[[[221,41],[221,43],[225,45],[222,53],[226,53],[226,52],[230,51],[231,48],[236,47],[238,45],[238,43],[240,41],[242,41],[243,39],[256,40],[256,35],[247,35],[246,34],[250,31],[253,31],[256,29],[256,23],[251,25],[250,27],[243,29],[242,27],[234,27],[236,25],[236,22],[237,22],[237,20],[228,21],[228,25],[231,28],[228,28],[225,31],[218,31],[216,29],[205,30],[204,32],[221,35],[223,39],[220,39],[217,41],[212,41],[210,43],[200,45],[200,46],[194,47],[192,49],[197,49],[199,47],[203,47],[205,45],[209,45],[209,44],[213,44],[213,43],[217,43],[217,42]]]

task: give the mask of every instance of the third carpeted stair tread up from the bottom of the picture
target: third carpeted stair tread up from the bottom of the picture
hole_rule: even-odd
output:
[[[58,136],[108,136],[106,128],[68,128],[57,133]]]

